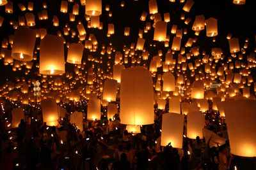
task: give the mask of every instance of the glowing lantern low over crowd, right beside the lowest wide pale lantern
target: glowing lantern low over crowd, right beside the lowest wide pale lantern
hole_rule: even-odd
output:
[[[200,139],[203,139],[204,122],[204,114],[201,111],[189,112],[187,119],[187,137],[196,139],[196,136],[199,136]]]

